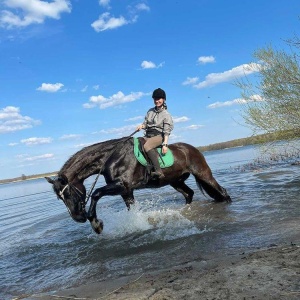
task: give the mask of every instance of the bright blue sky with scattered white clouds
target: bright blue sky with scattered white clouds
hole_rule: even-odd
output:
[[[299,0],[0,0],[0,179],[130,135],[158,87],[169,143],[251,136],[235,82],[257,75],[256,50],[287,47],[299,16]]]

